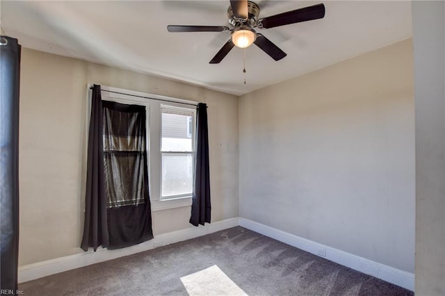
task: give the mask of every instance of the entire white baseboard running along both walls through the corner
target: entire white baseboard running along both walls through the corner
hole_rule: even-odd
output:
[[[264,224],[260,224],[242,217],[212,222],[211,224],[206,224],[205,227],[190,227],[187,229],[163,233],[155,236],[152,240],[124,249],[97,249],[97,252],[90,251],[24,265],[19,268],[19,283],[115,258],[120,258],[122,256],[129,256],[131,254],[144,252],[149,249],[154,249],[154,246],[161,247],[175,242],[197,238],[198,236],[205,236],[206,234],[223,229],[229,229],[238,225],[257,233],[261,233],[264,236],[274,238],[275,240],[280,240],[287,245],[298,247],[298,249],[305,250],[317,256],[321,256],[318,254],[320,250],[325,250],[325,256],[321,257],[326,258],[327,260],[339,263],[348,268],[352,268],[353,270],[369,274],[373,277],[377,277],[378,279],[382,279],[384,281],[388,281],[389,283],[394,283],[397,286],[414,291],[414,274],[411,272],[391,268],[390,266],[343,252],[339,249],[334,249],[332,247],[319,244],[318,242],[313,242],[312,240],[300,238],[299,236],[295,236],[291,233],[287,233],[273,227],[268,227]]]

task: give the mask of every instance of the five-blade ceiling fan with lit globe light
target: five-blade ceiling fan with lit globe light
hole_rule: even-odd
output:
[[[254,28],[274,28],[276,26],[306,22],[312,19],[321,19],[325,16],[325,6],[321,3],[261,19],[258,19],[258,16],[259,6],[257,3],[248,0],[230,0],[227,17],[229,17],[229,23],[234,26],[232,29],[228,26],[169,25],[167,26],[167,30],[175,33],[230,32],[231,38],[224,44],[220,51],[218,51],[216,56],[211,59],[211,64],[220,63],[234,46],[245,48],[249,47],[252,43],[257,45],[257,47],[266,52],[266,54],[274,60],[281,60],[286,56],[286,53],[268,40],[263,34],[257,33]]]

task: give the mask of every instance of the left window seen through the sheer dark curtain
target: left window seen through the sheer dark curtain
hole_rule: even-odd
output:
[[[148,199],[145,106],[102,100],[105,195],[108,208]]]

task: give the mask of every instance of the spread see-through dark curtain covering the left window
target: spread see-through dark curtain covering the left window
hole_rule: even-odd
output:
[[[145,106],[102,102],[108,249],[153,238]]]

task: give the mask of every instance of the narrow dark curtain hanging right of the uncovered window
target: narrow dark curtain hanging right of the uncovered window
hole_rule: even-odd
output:
[[[196,107],[195,133],[195,172],[193,176],[193,204],[190,223],[198,226],[210,223],[210,167],[209,167],[209,129],[207,126],[207,105]]]

